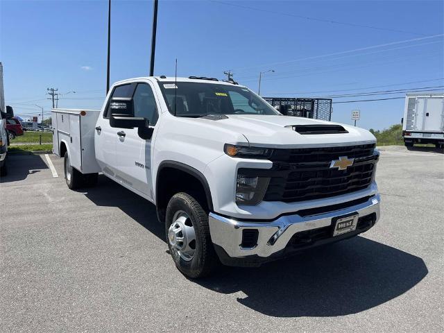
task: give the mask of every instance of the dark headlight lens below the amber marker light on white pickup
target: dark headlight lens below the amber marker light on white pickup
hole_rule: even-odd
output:
[[[246,176],[239,172],[236,184],[236,203],[239,205],[257,205],[260,203],[264,198],[269,180],[270,178]]]

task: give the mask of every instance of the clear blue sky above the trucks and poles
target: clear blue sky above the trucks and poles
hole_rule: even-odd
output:
[[[444,1],[160,0],[155,75],[234,79],[262,96],[325,96],[444,85]],[[100,108],[108,1],[0,0],[6,103],[37,114],[57,87],[62,108]],[[112,1],[111,81],[148,75],[152,1]],[[333,22],[332,22],[333,21]],[[434,36],[434,37],[430,37]],[[431,88],[440,89],[440,88]],[[76,91],[76,94],[70,93]],[[403,93],[336,97],[335,102]],[[335,103],[333,121],[387,128],[403,99]]]

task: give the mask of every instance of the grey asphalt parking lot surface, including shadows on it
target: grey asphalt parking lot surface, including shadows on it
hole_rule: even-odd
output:
[[[382,147],[382,219],[355,239],[191,281],[155,207],[62,160],[1,179],[0,332],[443,332],[444,154]]]

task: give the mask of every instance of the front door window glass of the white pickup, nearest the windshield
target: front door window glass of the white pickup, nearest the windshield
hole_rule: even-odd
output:
[[[139,83],[133,96],[134,117],[144,117],[149,120],[150,125],[157,123],[157,108],[153,90],[146,83]]]

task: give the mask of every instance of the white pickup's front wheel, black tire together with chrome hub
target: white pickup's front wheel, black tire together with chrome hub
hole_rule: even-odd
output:
[[[210,237],[208,214],[189,194],[175,194],[167,205],[165,233],[171,257],[179,271],[188,278],[210,275],[217,257]]]

